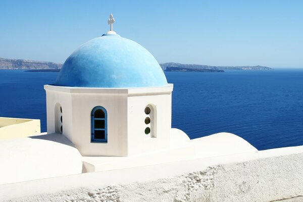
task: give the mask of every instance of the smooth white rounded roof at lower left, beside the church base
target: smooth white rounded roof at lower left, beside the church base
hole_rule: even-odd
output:
[[[46,140],[50,137],[62,139],[62,135],[55,134],[0,141],[0,184],[81,173],[79,151]]]

